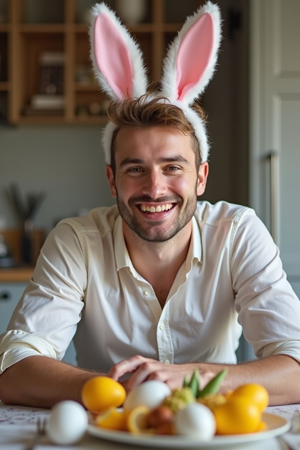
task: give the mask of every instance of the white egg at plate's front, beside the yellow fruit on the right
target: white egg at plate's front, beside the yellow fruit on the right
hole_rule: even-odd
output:
[[[178,434],[209,441],[215,435],[215,416],[200,403],[190,403],[175,415],[175,430]]]

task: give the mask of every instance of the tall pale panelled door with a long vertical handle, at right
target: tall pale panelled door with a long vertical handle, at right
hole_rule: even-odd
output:
[[[250,203],[300,297],[300,1],[250,6]]]

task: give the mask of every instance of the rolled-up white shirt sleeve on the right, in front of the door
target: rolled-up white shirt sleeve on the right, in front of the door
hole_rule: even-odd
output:
[[[255,356],[282,354],[300,361],[300,302],[278,247],[254,211],[235,224],[232,243],[235,308]]]

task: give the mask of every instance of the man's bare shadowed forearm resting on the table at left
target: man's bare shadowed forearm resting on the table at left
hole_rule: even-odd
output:
[[[39,408],[51,408],[62,400],[81,402],[83,384],[97,375],[46,356],[28,356],[0,375],[0,399]]]

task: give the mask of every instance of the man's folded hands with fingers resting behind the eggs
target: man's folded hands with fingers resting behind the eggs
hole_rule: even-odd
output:
[[[127,392],[134,389],[140,383],[149,380],[162,381],[173,390],[182,387],[185,374],[188,375],[188,378],[191,378],[194,369],[198,368],[198,364],[165,364],[137,355],[113,365],[108,376],[114,380],[118,380],[123,375],[132,373],[131,377],[122,383]],[[199,372],[201,387],[204,387],[215,376],[213,372],[202,370],[199,370]]]

